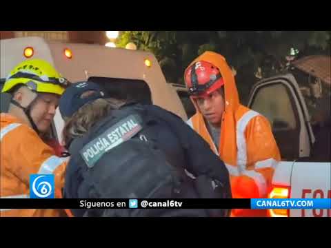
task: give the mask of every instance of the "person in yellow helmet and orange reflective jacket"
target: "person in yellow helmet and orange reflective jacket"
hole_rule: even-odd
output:
[[[66,85],[68,81],[41,59],[23,61],[8,75],[2,92],[12,94],[12,99],[8,113],[1,113],[1,198],[29,198],[30,174],[54,174],[54,196],[61,197],[66,161],[59,156],[59,143],[45,137]],[[0,215],[55,217],[66,213],[61,209],[0,209]]]

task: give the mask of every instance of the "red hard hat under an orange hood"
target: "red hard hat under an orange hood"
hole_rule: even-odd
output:
[[[190,96],[207,96],[224,85],[219,69],[212,63],[199,61],[185,71]]]

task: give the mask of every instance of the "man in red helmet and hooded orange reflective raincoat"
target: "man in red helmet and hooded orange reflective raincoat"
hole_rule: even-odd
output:
[[[225,163],[232,197],[266,198],[281,159],[267,118],[239,103],[232,70],[220,54],[204,52],[188,66],[184,78],[197,110],[187,123]],[[231,216],[266,214],[232,209]]]

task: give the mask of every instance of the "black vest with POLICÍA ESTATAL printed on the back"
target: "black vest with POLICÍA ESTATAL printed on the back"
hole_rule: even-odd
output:
[[[68,167],[79,167],[77,197],[174,197],[185,178],[184,161],[173,157],[181,153],[174,134],[159,125],[142,105],[129,105],[114,110],[85,136],[76,138],[70,145]],[[172,149],[160,146],[168,144],[158,140],[160,132],[174,136]]]

